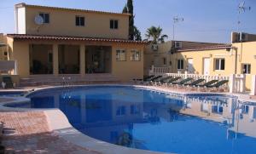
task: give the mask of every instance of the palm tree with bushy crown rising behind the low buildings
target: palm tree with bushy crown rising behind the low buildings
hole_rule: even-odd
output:
[[[152,43],[164,43],[165,39],[168,38],[168,36],[161,35],[162,31],[163,29],[160,28],[160,26],[158,27],[151,26],[147,30],[146,37],[148,37],[148,39],[152,39]]]

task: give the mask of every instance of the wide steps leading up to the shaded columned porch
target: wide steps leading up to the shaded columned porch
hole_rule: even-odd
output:
[[[63,85],[66,84],[88,84],[88,83],[119,83],[118,78],[112,74],[86,74],[80,75],[32,75],[20,79],[20,87]]]

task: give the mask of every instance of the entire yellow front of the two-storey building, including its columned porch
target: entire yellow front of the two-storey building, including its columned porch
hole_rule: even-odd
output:
[[[49,14],[49,23],[38,25],[35,19],[42,13]],[[15,60],[20,78],[64,73],[84,77],[96,73],[96,69],[97,73],[111,74],[121,82],[143,78],[146,43],[128,40],[130,14],[20,3],[15,5],[15,16],[17,34],[8,34],[5,40],[8,60]],[[76,25],[77,16],[84,18],[84,26]],[[117,28],[111,28],[111,20],[118,21]],[[125,60],[117,60],[120,49],[125,51]],[[139,60],[131,59],[134,50],[140,53]],[[94,70],[89,72],[90,69]]]

